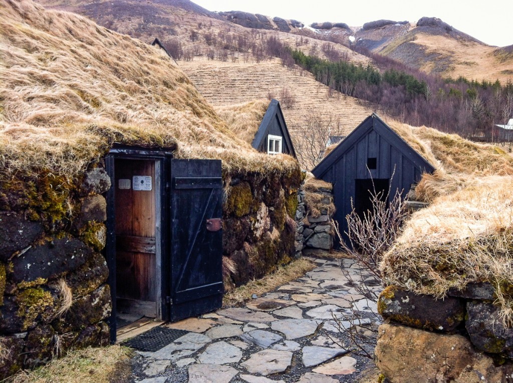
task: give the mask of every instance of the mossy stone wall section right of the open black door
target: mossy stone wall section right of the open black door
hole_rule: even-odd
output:
[[[261,278],[295,255],[294,215],[302,175],[231,175],[223,206],[225,290]]]

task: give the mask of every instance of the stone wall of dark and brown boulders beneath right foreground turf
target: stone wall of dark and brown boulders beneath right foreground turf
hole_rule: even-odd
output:
[[[508,382],[513,329],[504,326],[494,287],[469,284],[442,300],[394,286],[378,302],[376,364],[390,383]]]

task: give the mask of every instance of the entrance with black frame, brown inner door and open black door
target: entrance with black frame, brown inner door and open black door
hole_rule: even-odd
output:
[[[120,147],[106,167],[111,341],[130,318],[177,321],[220,308],[221,161]]]

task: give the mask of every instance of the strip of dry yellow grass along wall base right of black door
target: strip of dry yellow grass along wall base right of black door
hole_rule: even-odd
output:
[[[300,276],[314,268],[315,264],[309,259],[299,258],[294,260],[288,265],[280,267],[276,272],[264,276],[264,278],[250,281],[244,286],[225,294],[223,297],[223,307],[241,305],[249,301],[253,294],[262,296],[278,286],[300,278]]]

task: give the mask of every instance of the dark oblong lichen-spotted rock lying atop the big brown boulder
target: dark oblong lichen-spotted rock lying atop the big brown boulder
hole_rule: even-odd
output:
[[[463,323],[465,305],[457,298],[436,300],[389,286],[380,294],[378,312],[406,326],[451,332]]]

